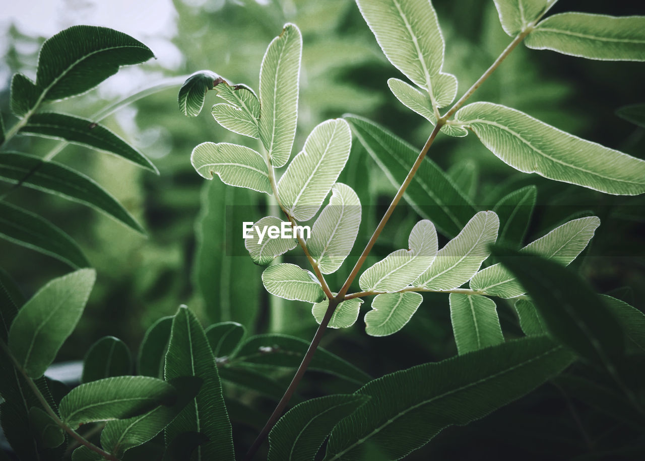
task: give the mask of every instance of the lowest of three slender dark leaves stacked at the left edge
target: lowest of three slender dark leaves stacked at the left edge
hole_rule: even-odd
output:
[[[0,202],[0,237],[59,259],[72,268],[90,265],[76,242],[61,229],[4,201]]]

